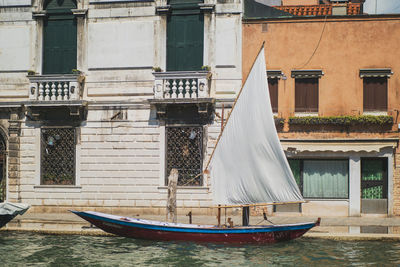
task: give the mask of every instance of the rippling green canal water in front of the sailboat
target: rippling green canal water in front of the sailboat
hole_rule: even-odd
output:
[[[400,266],[400,243],[224,246],[0,231],[0,266]]]

